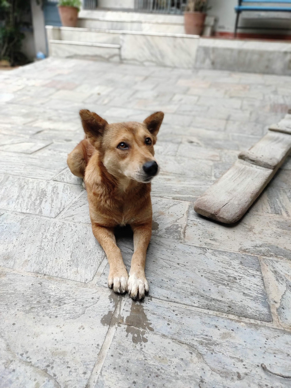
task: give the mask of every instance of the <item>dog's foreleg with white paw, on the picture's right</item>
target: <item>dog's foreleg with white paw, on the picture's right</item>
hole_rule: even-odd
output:
[[[134,252],[127,282],[127,292],[132,299],[140,300],[149,292],[149,284],[145,278],[145,255],[151,240],[152,221],[142,225],[130,225],[133,230]]]

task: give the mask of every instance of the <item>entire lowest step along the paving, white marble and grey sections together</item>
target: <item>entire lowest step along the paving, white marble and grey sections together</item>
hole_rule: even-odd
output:
[[[46,28],[52,56],[291,75],[289,43],[116,29]]]

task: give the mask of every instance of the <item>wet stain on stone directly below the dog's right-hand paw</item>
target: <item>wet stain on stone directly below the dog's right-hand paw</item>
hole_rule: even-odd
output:
[[[145,334],[147,333],[146,330],[154,331],[153,327],[151,327],[151,322],[149,322],[145,315],[142,302],[132,302],[130,314],[126,317],[125,323],[127,325],[126,337],[128,337],[128,334],[131,334],[132,342],[135,344],[146,343],[148,341],[145,337]]]

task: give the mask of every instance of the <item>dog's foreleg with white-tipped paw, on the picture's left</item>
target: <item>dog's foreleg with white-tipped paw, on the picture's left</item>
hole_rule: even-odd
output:
[[[116,293],[127,290],[128,274],[123,263],[121,251],[116,245],[113,228],[107,228],[92,223],[93,234],[104,249],[109,263],[108,287]]]

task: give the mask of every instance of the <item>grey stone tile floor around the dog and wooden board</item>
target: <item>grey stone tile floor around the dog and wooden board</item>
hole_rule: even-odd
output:
[[[193,202],[291,106],[291,77],[47,59],[0,73],[1,388],[291,386],[291,160],[237,225]],[[165,112],[150,294],[107,288],[66,156],[78,110]],[[128,230],[118,244],[129,266]]]

